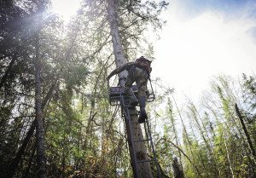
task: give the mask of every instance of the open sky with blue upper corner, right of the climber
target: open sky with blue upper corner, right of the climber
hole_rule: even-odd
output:
[[[218,74],[256,72],[255,0],[169,0],[152,78],[193,99]]]

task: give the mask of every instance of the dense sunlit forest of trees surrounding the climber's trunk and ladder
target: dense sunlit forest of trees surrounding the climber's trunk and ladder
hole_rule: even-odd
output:
[[[154,59],[147,32],[164,26],[165,1],[87,0],[67,24],[48,0],[1,0],[0,177],[133,176],[121,109],[108,102],[109,4],[125,59]],[[162,177],[178,176],[176,162],[188,178],[256,177],[256,76],[217,76],[182,105],[175,89],[152,84]]]

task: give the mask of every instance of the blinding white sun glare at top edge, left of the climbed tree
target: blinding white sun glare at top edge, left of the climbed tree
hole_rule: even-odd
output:
[[[63,20],[68,21],[77,14],[82,0],[51,0],[52,9],[55,14],[59,14]]]

